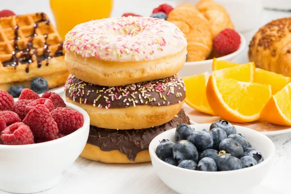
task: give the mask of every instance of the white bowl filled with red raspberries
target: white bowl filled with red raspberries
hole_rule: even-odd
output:
[[[54,92],[23,89],[16,101],[0,90],[0,190],[45,191],[81,154],[89,115]]]

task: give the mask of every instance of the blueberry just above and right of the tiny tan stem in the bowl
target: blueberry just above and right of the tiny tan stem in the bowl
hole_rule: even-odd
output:
[[[226,151],[226,153],[231,154],[231,156],[241,158],[243,156],[243,149],[240,143],[234,139],[226,138],[222,140],[219,144],[219,149]]]

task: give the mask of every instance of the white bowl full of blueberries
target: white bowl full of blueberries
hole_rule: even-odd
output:
[[[270,171],[275,145],[219,120],[167,130],[151,141],[149,154],[158,176],[179,194],[245,194]]]

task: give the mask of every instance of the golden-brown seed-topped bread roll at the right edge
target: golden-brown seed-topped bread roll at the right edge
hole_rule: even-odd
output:
[[[249,44],[248,57],[261,69],[291,77],[291,17],[261,27]]]

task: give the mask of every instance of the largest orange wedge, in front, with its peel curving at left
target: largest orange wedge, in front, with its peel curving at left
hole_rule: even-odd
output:
[[[213,112],[237,123],[259,119],[259,113],[272,96],[270,85],[216,79],[210,76],[206,96]]]

